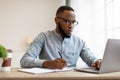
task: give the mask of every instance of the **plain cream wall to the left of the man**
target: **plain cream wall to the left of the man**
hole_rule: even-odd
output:
[[[54,17],[65,0],[0,0],[0,44],[12,49],[12,66],[19,66],[26,38],[55,28]]]

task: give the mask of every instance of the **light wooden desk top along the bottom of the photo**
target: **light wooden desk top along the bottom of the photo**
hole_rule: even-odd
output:
[[[120,80],[120,72],[93,74],[75,70],[45,74],[29,74],[18,72],[12,68],[10,72],[0,72],[0,80]]]

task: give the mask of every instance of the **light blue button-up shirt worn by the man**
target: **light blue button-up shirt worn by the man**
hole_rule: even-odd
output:
[[[75,67],[79,57],[88,66],[96,60],[83,40],[74,35],[63,39],[53,30],[40,33],[33,40],[20,61],[21,67],[42,67],[45,60],[60,58],[59,53],[66,60],[68,67]]]

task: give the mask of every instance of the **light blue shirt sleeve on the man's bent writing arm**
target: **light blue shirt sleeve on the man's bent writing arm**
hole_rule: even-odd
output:
[[[40,33],[30,44],[26,53],[21,58],[20,60],[21,67],[24,68],[42,67],[42,64],[45,60],[38,59],[38,55],[42,50],[44,41],[45,41],[44,33]]]

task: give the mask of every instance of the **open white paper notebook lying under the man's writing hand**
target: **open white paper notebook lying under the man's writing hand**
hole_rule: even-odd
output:
[[[60,72],[60,71],[69,71],[69,70],[73,70],[73,68],[65,67],[63,69],[46,69],[46,68],[21,68],[21,69],[18,69],[18,71],[32,73],[32,74]]]

